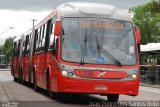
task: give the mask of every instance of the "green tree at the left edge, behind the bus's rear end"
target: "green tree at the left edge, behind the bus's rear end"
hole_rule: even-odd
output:
[[[10,61],[12,56],[12,47],[13,47],[13,40],[15,37],[9,37],[5,40],[4,45],[0,46],[0,53],[6,55],[7,61]]]

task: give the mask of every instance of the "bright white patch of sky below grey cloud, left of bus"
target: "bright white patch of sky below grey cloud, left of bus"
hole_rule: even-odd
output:
[[[37,20],[35,22],[36,24],[50,13],[50,11],[29,12],[0,10],[0,13],[0,45],[2,45],[6,38],[10,36],[19,36],[28,31],[32,27],[32,19]],[[10,27],[14,28],[8,29]]]

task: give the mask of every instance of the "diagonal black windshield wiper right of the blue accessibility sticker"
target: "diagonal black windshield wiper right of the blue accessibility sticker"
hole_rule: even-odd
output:
[[[122,66],[122,63],[117,59],[115,58],[110,52],[108,52],[106,49],[104,49],[103,47],[101,47],[101,52],[104,53],[106,56],[109,55],[109,58],[119,67]]]

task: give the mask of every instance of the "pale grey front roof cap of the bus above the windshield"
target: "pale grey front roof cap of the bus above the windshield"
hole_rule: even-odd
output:
[[[132,21],[127,12],[108,4],[68,2],[61,4],[57,9],[62,17],[100,17]]]

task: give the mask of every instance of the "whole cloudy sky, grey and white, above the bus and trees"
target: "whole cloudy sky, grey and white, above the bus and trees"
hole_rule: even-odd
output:
[[[65,2],[96,2],[115,5],[128,11],[151,0],[0,0],[0,45],[10,36],[19,36],[41,21],[55,7]],[[14,27],[10,29],[11,27]]]

